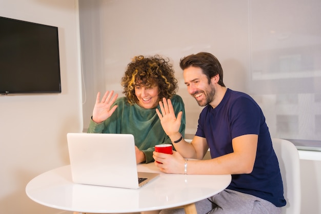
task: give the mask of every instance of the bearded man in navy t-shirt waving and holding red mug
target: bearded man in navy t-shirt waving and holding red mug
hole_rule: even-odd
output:
[[[196,203],[198,213],[280,213],[286,204],[283,183],[260,107],[249,95],[225,87],[223,69],[210,53],[186,56],[180,68],[188,92],[205,107],[195,137],[187,143],[178,132],[182,113],[176,118],[170,100],[159,103],[157,115],[177,152],[154,152],[155,161],[163,163],[155,165],[166,173],[232,174],[224,191]],[[212,159],[202,160],[208,148]]]

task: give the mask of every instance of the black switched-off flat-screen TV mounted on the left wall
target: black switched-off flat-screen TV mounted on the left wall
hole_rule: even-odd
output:
[[[0,94],[61,93],[58,28],[0,16]]]

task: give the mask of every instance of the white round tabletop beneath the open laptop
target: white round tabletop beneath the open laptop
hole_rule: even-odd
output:
[[[137,169],[158,172],[160,176],[139,189],[75,184],[70,165],[67,165],[32,179],[26,186],[26,193],[33,201],[57,209],[126,213],[194,205],[224,190],[231,182],[230,175],[162,173],[154,163],[138,164]]]

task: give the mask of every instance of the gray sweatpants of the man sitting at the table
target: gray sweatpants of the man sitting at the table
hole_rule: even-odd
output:
[[[225,189],[195,203],[197,214],[280,214],[281,208],[251,194]],[[159,214],[185,214],[184,209],[163,209]]]

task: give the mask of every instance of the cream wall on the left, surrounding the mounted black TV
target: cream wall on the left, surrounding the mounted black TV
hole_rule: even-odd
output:
[[[0,0],[0,16],[58,27],[62,79],[61,94],[0,96],[0,213],[58,213],[30,200],[25,187],[69,164],[66,133],[83,129],[78,4]]]

